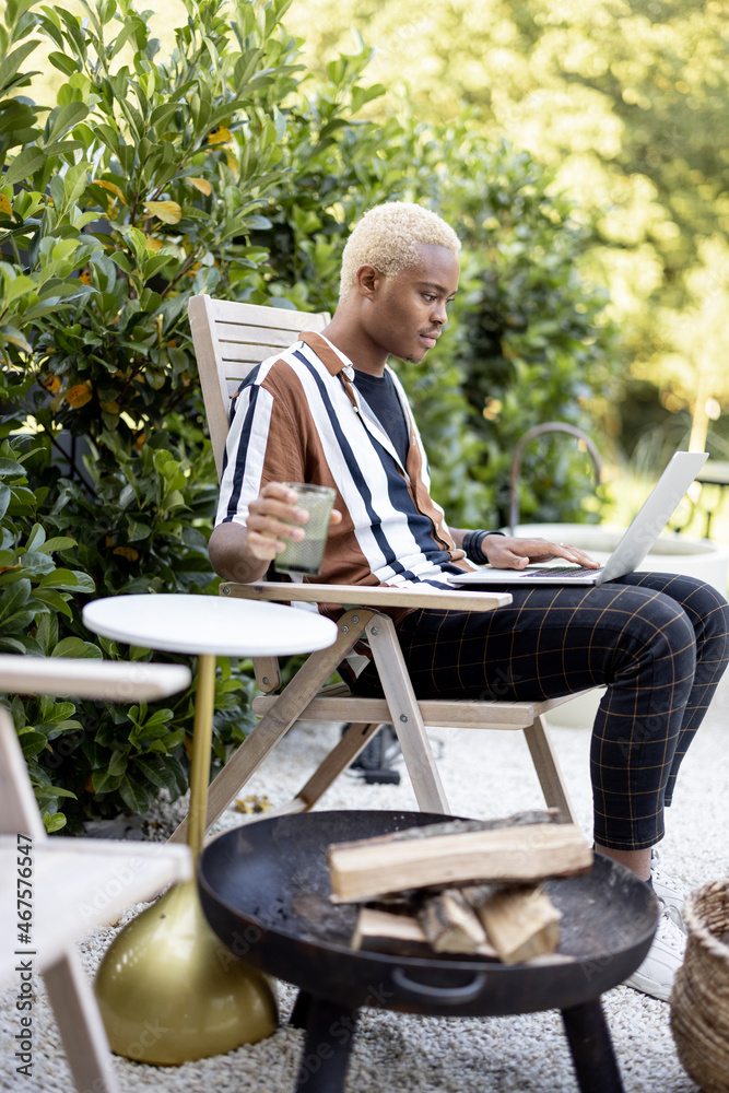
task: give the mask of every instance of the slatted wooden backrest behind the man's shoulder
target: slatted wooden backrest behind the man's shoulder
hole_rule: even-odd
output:
[[[296,341],[303,330],[324,330],[327,312],[294,312],[286,307],[240,304],[212,296],[192,296],[190,330],[198,361],[210,439],[220,478],[228,409],[251,367]]]

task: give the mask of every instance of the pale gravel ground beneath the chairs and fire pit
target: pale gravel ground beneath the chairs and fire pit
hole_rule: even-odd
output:
[[[686,889],[725,877],[726,802],[729,800],[726,722],[729,682],[720,689],[702,731],[684,762],[667,837],[662,865]],[[588,779],[589,733],[553,727],[553,739],[571,788],[578,822],[590,833]],[[311,766],[334,742],[332,726],[301,722],[295,726],[246,788],[247,795],[280,801],[293,796]],[[432,730],[442,750],[439,769],[449,800],[461,814],[503,815],[543,806],[539,785],[520,736],[475,730]],[[366,786],[344,776],[320,802],[322,809],[415,808],[403,777],[400,786]],[[184,806],[160,808],[145,830],[162,837],[184,814]],[[219,828],[239,823],[228,812]],[[131,837],[142,832],[133,828]],[[130,908],[126,921],[141,909]],[[86,969],[93,974],[117,928],[96,930],[79,944]],[[281,985],[282,1021],[293,1004],[294,991]],[[627,987],[603,996],[626,1093],[692,1093],[697,1086],[683,1071],[669,1025],[669,1006]],[[0,1037],[5,1044],[0,1059],[0,1089],[23,1093],[71,1093],[73,1085],[43,984],[34,1009],[37,1034],[33,1077],[14,1071],[7,1049],[14,1033],[14,990],[0,994]],[[269,1039],[225,1056],[157,1068],[116,1058],[122,1093],[290,1093],[295,1085],[303,1034],[282,1023]],[[576,1090],[566,1041],[557,1012],[516,1018],[415,1018],[365,1010],[350,1065],[346,1093],[562,1093]]]

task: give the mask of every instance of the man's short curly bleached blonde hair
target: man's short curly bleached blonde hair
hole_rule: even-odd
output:
[[[366,212],[352,232],[342,255],[340,303],[365,262],[386,277],[399,277],[420,265],[418,245],[446,247],[458,255],[460,239],[445,220],[411,201],[386,201]]]

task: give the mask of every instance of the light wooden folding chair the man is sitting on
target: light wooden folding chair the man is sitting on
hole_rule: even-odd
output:
[[[207,295],[190,299],[189,315],[220,473],[230,399],[240,380],[255,364],[295,341],[301,331],[321,330],[329,316],[217,301]],[[349,721],[351,727],[296,797],[277,808],[275,814],[310,809],[356,759],[379,726],[391,722],[398,733],[421,809],[449,812],[428,743],[427,726],[518,729],[526,737],[546,803],[574,820],[544,721],[548,710],[574,695],[546,702],[419,702],[392,621],[381,610],[387,607],[427,607],[434,610],[490,611],[509,603],[509,595],[466,590],[421,593],[413,589],[271,581],[249,585],[226,581],[221,585],[221,595],[285,602],[341,603],[344,613],[339,620],[339,637],[334,645],[313,654],[280,694],[277,694],[281,686],[277,660],[254,661],[256,682],[262,694],[254,698],[252,708],[254,713],[261,715],[261,720],[211,784],[208,827],[298,718]],[[362,636],[372,646],[384,698],[361,698],[352,695],[344,684],[327,685],[331,673]],[[173,838],[185,838],[186,830],[187,821],[184,821]]]

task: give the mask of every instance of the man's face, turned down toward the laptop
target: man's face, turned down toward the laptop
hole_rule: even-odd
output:
[[[433,349],[447,322],[446,307],[458,287],[460,263],[446,247],[420,244],[422,261],[399,277],[375,280],[367,333],[387,353],[418,363]]]

